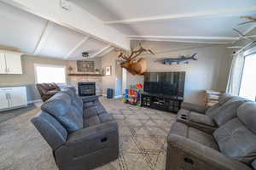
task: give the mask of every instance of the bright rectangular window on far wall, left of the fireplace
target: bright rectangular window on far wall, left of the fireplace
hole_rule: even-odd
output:
[[[63,65],[39,65],[35,64],[37,83],[66,83],[66,66]]]

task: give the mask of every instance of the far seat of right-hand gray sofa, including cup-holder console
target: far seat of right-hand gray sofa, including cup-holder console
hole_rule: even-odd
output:
[[[212,133],[216,128],[234,118],[237,108],[247,101],[248,99],[222,94],[218,104],[208,109],[204,106],[184,103],[177,113],[177,122]]]

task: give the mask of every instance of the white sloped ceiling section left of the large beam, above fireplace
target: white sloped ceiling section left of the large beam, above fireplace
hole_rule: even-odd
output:
[[[93,57],[112,49],[106,42],[1,2],[0,23],[0,46],[16,48],[26,54],[82,59],[82,52],[89,52]]]

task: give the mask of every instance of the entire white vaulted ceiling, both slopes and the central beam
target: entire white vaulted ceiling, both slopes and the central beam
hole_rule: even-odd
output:
[[[68,9],[61,8],[67,1]],[[255,0],[0,0],[0,48],[60,59],[102,56],[130,40],[231,43]]]

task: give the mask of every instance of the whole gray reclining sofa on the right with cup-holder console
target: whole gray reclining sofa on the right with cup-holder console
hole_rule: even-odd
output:
[[[167,137],[166,170],[256,169],[256,103],[223,94],[208,110],[184,104]]]

